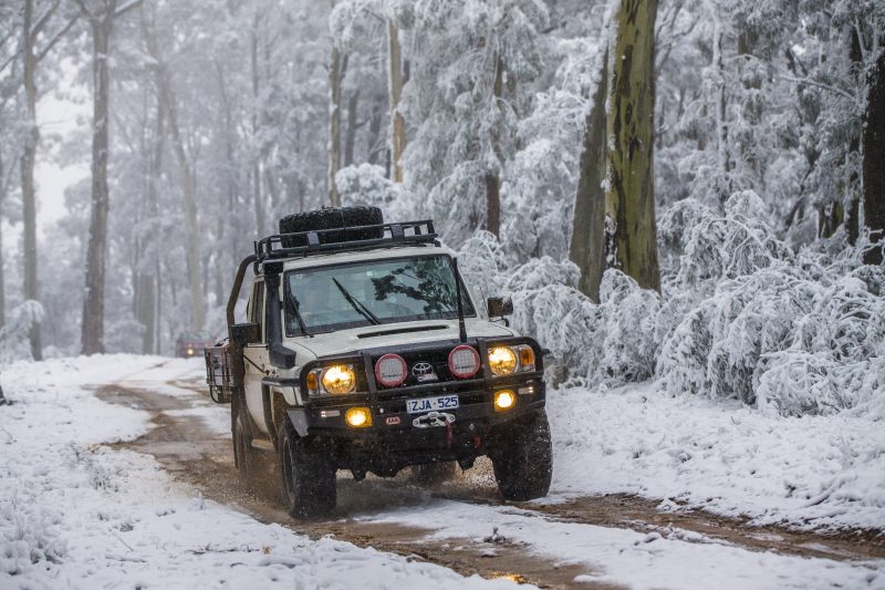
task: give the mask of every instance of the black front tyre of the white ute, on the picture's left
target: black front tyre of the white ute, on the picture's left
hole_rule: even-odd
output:
[[[335,509],[335,464],[322,443],[299,437],[289,420],[279,433],[283,498],[293,518],[319,518]]]

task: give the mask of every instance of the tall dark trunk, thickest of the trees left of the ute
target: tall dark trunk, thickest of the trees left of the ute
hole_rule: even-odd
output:
[[[83,299],[82,351],[97,354],[104,348],[104,275],[107,252],[107,51],[114,19],[111,2],[101,20],[91,20],[92,28],[92,219],[86,250],[86,284]]]

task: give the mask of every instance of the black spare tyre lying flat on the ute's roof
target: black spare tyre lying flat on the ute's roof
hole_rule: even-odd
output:
[[[381,227],[367,229],[347,229],[361,226],[381,226],[384,224],[384,214],[377,207],[323,207],[312,211],[287,215],[280,219],[280,234],[283,248],[306,246],[306,236],[285,236],[301,231],[317,231],[321,229],[342,229],[320,234],[320,244],[335,244],[339,241],[371,240],[384,237]]]

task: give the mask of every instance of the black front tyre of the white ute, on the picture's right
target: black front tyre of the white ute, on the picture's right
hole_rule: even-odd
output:
[[[546,496],[553,475],[546,412],[541,410],[528,420],[507,425],[496,438],[489,457],[504,499],[525,501]]]

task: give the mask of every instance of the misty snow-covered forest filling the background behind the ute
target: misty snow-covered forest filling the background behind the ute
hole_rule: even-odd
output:
[[[4,0],[0,362],[223,334],[253,239],[371,204],[556,382],[883,418],[884,45],[881,0]],[[37,158],[92,172],[42,232]]]

